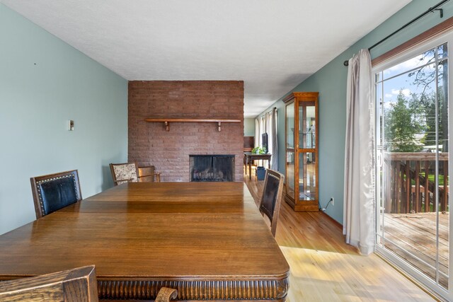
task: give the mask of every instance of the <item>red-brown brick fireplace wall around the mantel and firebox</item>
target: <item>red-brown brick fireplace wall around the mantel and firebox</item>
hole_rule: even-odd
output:
[[[243,81],[130,81],[129,161],[154,165],[162,181],[190,181],[190,155],[234,156],[234,181],[243,180]],[[145,122],[229,119],[213,122]]]

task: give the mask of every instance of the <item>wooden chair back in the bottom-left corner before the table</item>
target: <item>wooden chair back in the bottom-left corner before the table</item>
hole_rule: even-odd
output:
[[[0,282],[0,302],[79,301],[97,302],[94,265],[63,272]]]

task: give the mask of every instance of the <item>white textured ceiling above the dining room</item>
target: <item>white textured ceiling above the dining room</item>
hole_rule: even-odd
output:
[[[0,0],[127,80],[243,80],[245,117],[410,0]]]

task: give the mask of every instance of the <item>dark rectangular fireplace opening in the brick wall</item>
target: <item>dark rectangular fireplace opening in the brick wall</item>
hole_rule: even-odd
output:
[[[234,155],[190,155],[191,182],[234,181]]]

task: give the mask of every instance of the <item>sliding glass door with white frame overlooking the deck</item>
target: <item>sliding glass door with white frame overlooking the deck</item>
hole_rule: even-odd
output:
[[[437,38],[374,69],[377,251],[452,298],[449,50]]]

